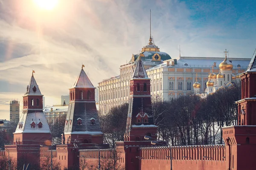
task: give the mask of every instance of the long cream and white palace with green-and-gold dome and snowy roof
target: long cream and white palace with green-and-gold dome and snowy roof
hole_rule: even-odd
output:
[[[226,53],[227,56],[227,53]],[[160,52],[160,48],[152,42],[142,48],[140,54],[132,54],[131,60],[120,66],[120,75],[99,82],[99,112],[108,113],[117,105],[129,100],[129,83],[134,73],[137,61],[141,58],[148,77],[151,79],[152,100],[171,100],[178,96],[195,93],[193,84],[200,83],[198,93],[207,91],[207,81],[210,73],[219,74],[219,65],[223,57],[179,57],[172,59],[169,54]],[[238,75],[246,71],[250,58],[227,57],[227,62],[233,65],[232,76],[226,77],[226,82],[236,82]],[[229,76],[229,75],[228,75]],[[143,88],[143,85],[142,85]]]

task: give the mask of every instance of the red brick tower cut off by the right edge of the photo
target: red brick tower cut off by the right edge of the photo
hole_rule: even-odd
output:
[[[238,125],[224,127],[226,168],[254,170],[256,153],[256,54],[241,77],[241,100],[238,105]]]

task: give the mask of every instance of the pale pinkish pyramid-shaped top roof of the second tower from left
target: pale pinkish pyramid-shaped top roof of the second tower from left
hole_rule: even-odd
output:
[[[71,88],[95,88],[93,84],[91,83],[90,79],[87,77],[87,75],[84,72],[84,69],[82,68],[79,76],[76,79],[76,82],[74,83]]]

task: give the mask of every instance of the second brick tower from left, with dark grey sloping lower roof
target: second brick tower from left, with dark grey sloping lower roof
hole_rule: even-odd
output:
[[[83,65],[84,66],[84,65]],[[95,87],[85,74],[83,67],[70,90],[70,102],[64,127],[65,144],[102,144],[95,103]]]

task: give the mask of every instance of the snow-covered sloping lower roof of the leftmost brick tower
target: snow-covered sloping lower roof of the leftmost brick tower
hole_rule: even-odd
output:
[[[23,124],[23,122],[25,122],[25,125]],[[35,122],[35,128],[31,127],[32,122]],[[37,126],[39,122],[43,124],[41,128]],[[23,126],[19,128],[19,124]],[[20,115],[19,124],[17,125],[15,133],[51,133],[43,112],[28,113],[28,111],[25,111]]]

